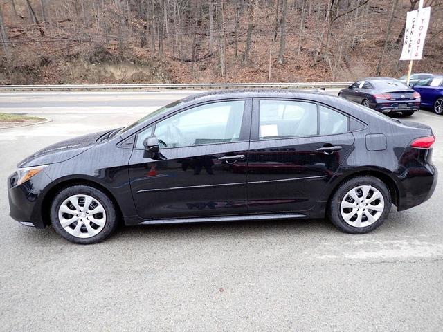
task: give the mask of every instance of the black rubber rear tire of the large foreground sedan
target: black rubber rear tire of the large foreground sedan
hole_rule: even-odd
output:
[[[346,221],[343,219],[343,216],[341,215],[341,202],[345,198],[347,192],[352,190],[352,188],[359,187],[361,185],[370,185],[379,190],[379,192],[383,196],[384,208],[377,221],[375,221],[371,225],[368,225],[367,227],[358,228],[346,223]],[[345,181],[336,189],[336,191],[332,195],[332,198],[329,200],[327,216],[329,217],[329,220],[332,221],[332,223],[343,232],[350,234],[365,234],[379,227],[379,225],[381,225],[385,221],[390,212],[391,205],[391,195],[388,187],[385,183],[383,183],[383,181],[373,176],[356,176]]]

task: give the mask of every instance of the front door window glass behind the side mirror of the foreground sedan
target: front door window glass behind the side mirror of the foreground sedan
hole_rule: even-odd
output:
[[[143,149],[143,140],[154,135],[160,147],[237,142],[240,138],[244,100],[204,104],[170,116],[138,134],[136,148]]]

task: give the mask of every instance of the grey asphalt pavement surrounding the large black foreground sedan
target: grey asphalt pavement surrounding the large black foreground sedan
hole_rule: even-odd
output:
[[[6,176],[52,142],[141,115],[53,111],[0,130],[1,331],[442,331],[442,181],[360,236],[326,220],[260,221],[123,228],[78,246],[13,221]],[[443,169],[443,117],[411,120],[433,127]]]

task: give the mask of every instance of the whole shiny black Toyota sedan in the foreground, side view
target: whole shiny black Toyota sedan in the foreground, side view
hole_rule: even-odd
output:
[[[125,225],[329,219],[370,232],[434,191],[435,138],[334,96],[222,91],[42,149],[8,178],[10,215],[96,243]]]

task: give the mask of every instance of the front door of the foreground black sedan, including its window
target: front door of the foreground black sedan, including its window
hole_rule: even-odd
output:
[[[245,214],[251,100],[188,108],[139,132],[129,161],[131,190],[143,219]],[[147,156],[143,140],[159,139]]]

